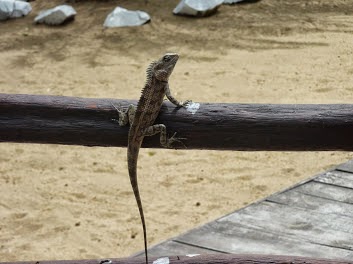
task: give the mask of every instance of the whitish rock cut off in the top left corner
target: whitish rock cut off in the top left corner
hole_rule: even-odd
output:
[[[26,16],[31,11],[30,3],[16,0],[0,0],[0,20]]]

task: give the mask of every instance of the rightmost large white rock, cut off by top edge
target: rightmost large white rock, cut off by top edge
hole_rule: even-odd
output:
[[[224,0],[181,0],[174,8],[175,15],[208,16],[216,12]]]

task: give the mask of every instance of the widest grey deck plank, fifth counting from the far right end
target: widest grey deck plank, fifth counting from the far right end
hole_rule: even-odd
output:
[[[219,219],[311,243],[353,248],[353,219],[261,202]]]

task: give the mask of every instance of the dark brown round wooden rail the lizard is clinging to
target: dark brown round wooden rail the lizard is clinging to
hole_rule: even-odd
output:
[[[136,101],[0,94],[0,142],[126,147],[112,106]],[[187,149],[353,150],[353,105],[201,103],[191,114],[164,103],[157,120]],[[160,147],[159,137],[144,147]],[[184,148],[183,145],[175,145]]]

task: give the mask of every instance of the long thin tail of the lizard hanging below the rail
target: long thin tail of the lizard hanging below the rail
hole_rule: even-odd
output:
[[[141,201],[140,192],[139,192],[138,183],[137,183],[138,152],[139,152],[139,148],[133,148],[133,147],[129,146],[127,160],[128,160],[128,167],[129,167],[130,183],[132,186],[132,190],[134,191],[137,207],[140,212],[140,218],[141,218],[141,223],[142,223],[142,228],[143,228],[143,240],[144,240],[144,244],[145,244],[146,264],[148,264],[146,223],[145,223],[145,216],[143,214],[142,201]]]

